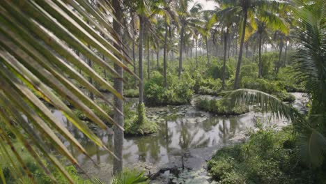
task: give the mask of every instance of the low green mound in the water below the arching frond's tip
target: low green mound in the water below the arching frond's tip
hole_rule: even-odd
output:
[[[199,99],[196,102],[196,107],[219,115],[239,115],[249,112],[249,109],[244,105],[232,107],[228,100],[208,100],[207,98]]]

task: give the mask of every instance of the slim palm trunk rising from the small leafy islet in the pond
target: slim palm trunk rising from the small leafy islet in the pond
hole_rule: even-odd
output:
[[[143,24],[144,17],[139,16],[139,53],[138,53],[138,62],[139,62],[139,105],[143,103]]]

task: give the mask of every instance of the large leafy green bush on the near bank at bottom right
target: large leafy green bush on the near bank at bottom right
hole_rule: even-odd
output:
[[[292,128],[273,128],[250,135],[248,141],[217,151],[208,162],[219,183],[316,183],[313,170],[296,164]]]

